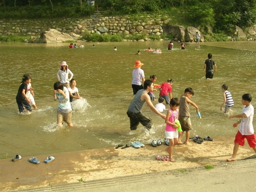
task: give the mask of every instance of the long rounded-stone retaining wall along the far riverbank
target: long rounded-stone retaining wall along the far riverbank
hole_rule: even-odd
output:
[[[56,29],[59,32],[70,34],[79,38],[85,32],[98,34],[146,34],[163,35],[163,24],[169,23],[170,18],[162,20],[151,18],[150,16],[140,16],[141,20],[131,21],[130,17],[104,17],[102,13],[95,13],[88,19],[63,19],[61,21],[46,20],[0,20],[0,35],[27,35],[39,37],[41,32],[47,29]]]

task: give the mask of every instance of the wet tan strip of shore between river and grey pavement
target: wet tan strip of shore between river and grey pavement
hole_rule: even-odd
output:
[[[207,164],[227,163],[233,151],[234,136],[217,137],[214,141],[204,141],[201,145],[189,140],[188,145],[176,145],[173,151],[175,163],[156,160],[157,154],[168,155],[162,143],[157,147],[146,144],[143,148],[125,149],[102,148],[73,151],[60,154],[36,156],[39,164],[29,162],[31,157],[0,160],[0,191],[26,189],[63,183],[108,179],[113,177],[145,174],[149,172],[189,169]],[[125,143],[122,143],[125,145]],[[239,147],[237,160],[254,155],[247,142]],[[20,154],[22,155],[22,154]],[[48,155],[55,157],[50,163],[44,163]],[[13,157],[14,158],[14,157]]]

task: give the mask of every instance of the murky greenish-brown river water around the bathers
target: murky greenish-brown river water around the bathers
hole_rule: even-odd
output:
[[[179,98],[186,87],[194,89],[195,95],[191,100],[198,105],[202,119],[190,106],[191,135],[214,138],[236,134],[237,128],[232,125],[238,119],[228,119],[228,115],[220,111],[223,102],[221,85],[228,84],[235,102],[230,114],[241,113],[241,96],[244,93],[250,93],[252,104],[255,104],[256,42],[207,42],[201,47],[191,43],[186,44],[188,48],[185,50],[180,50],[180,43],[175,42],[175,49],[171,51],[167,50],[168,43],[77,43],[78,46],[84,44],[84,48],[68,49],[69,44],[1,42],[0,158],[6,152],[8,157],[16,154],[29,156],[163,139],[164,119],[147,105],[143,113],[150,116],[154,126],[146,131],[140,124],[136,131],[130,131],[126,111],[133,98],[131,73],[137,60],[144,63],[142,69],[146,79],[153,74],[157,75],[157,84],[174,79],[173,97]],[[117,51],[113,50],[114,47]],[[161,48],[163,53],[145,52],[148,47]],[[137,50],[141,50],[141,55],[135,55]],[[212,53],[217,65],[217,73],[212,80],[206,80],[203,72],[208,53]],[[77,100],[74,106],[73,128],[65,123],[63,128],[56,127],[58,102],[53,101],[52,92],[62,61],[66,61],[74,73],[76,87],[84,98]],[[29,115],[18,114],[15,100],[25,73],[32,77],[39,109]],[[154,93],[157,99],[158,93]],[[154,105],[156,103],[153,102]]]

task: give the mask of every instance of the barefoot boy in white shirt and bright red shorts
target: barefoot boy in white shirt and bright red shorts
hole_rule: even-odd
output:
[[[237,131],[236,138],[235,138],[235,145],[233,149],[233,154],[230,159],[227,161],[235,161],[236,154],[239,148],[239,145],[244,146],[244,139],[247,139],[247,142],[251,148],[256,153],[256,136],[254,135],[253,130],[253,114],[254,108],[253,105],[250,104],[252,100],[252,96],[250,94],[244,94],[242,96],[242,105],[244,105],[242,114],[240,115],[231,115],[229,118],[241,118],[238,122],[233,124],[233,127],[237,127],[239,123],[240,127]]]

